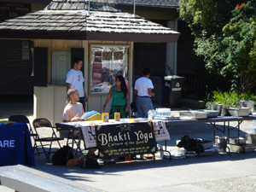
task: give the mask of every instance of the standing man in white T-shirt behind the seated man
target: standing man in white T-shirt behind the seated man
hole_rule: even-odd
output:
[[[84,90],[84,77],[83,73],[80,71],[80,69],[83,67],[83,61],[79,57],[75,57],[73,60],[73,68],[69,70],[67,73],[67,90],[70,88],[74,88],[76,90],[79,90],[79,102],[83,104],[83,108],[85,111],[85,102],[88,102],[88,98],[86,96],[85,90]],[[67,96],[67,103],[69,102]]]

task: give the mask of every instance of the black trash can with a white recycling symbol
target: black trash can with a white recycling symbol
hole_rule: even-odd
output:
[[[178,107],[185,78],[177,75],[165,76],[163,83],[163,107]]]

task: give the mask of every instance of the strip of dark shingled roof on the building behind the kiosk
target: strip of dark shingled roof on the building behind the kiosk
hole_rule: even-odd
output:
[[[134,0],[115,0],[119,4],[133,5]],[[136,6],[178,8],[179,0],[136,0]]]

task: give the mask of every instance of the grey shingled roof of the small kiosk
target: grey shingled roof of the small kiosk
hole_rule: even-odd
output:
[[[53,0],[41,11],[0,23],[1,38],[176,42],[178,32],[121,12],[114,0]]]

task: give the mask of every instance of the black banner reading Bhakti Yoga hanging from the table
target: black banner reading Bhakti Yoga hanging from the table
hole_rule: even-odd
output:
[[[154,154],[157,151],[150,122],[97,125],[96,143],[101,158]]]

